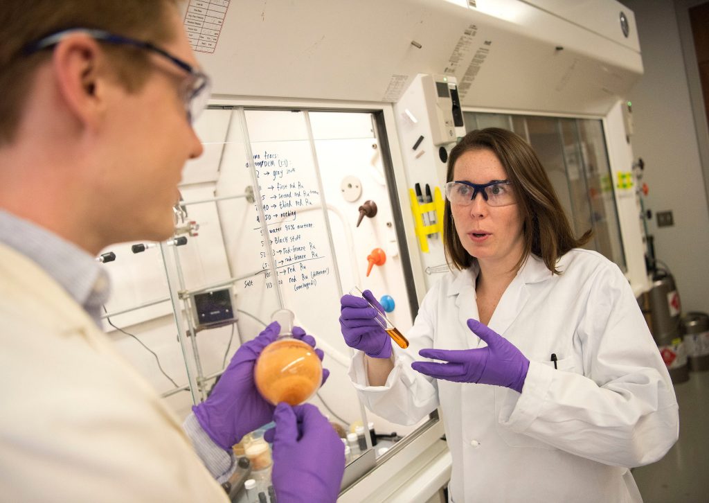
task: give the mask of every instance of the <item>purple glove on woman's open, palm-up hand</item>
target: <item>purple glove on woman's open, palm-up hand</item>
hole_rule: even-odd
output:
[[[521,393],[530,360],[506,338],[479,321],[469,319],[468,328],[487,343],[486,348],[422,349],[418,354],[424,358],[447,363],[414,362],[411,364],[413,370],[436,379],[504,386]]]

